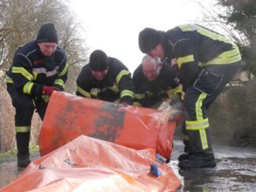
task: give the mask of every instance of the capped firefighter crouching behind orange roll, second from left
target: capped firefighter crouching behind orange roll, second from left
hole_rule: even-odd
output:
[[[130,71],[121,61],[101,50],[90,54],[90,63],[82,67],[76,83],[77,96],[125,105],[133,103],[134,85]]]

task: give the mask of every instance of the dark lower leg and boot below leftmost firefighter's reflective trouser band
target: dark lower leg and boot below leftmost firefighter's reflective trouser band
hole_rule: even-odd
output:
[[[17,166],[20,168],[25,168],[31,163],[29,157],[29,140],[30,132],[17,132],[16,133],[16,146],[18,149],[17,153]]]

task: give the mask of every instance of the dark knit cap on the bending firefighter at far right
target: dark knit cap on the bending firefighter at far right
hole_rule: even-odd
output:
[[[160,42],[160,33],[152,28],[144,28],[139,34],[139,47],[142,53],[148,53]]]

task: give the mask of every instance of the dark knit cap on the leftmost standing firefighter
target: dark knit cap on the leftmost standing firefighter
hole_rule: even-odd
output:
[[[58,43],[57,31],[53,24],[43,24],[39,31],[38,37],[36,38],[37,42],[56,42]]]

